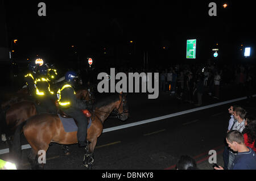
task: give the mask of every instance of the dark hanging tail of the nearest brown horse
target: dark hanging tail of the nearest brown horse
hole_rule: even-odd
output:
[[[22,129],[24,127],[24,125],[27,123],[27,120],[24,121],[23,123],[19,124],[18,127],[16,128],[15,130],[15,133],[14,133],[14,140],[13,140],[13,156],[14,156],[14,159],[16,161],[19,161],[20,157],[21,157],[21,153],[22,153],[22,149],[21,149],[21,144],[20,144],[20,135],[22,133]],[[16,162],[18,163],[18,162]]]

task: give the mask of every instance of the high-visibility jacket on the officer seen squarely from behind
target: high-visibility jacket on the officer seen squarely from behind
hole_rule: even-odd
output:
[[[54,92],[51,91],[51,86],[49,84],[49,79],[48,78],[36,78],[35,80],[35,85],[36,85],[36,95],[38,96],[44,96],[44,95],[53,95]]]

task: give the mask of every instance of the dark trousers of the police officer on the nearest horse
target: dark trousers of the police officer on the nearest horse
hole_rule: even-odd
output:
[[[88,120],[85,117],[84,113],[80,109],[70,107],[68,109],[62,109],[66,115],[73,117],[77,121],[77,141],[86,141],[87,138],[87,127],[88,127]]]

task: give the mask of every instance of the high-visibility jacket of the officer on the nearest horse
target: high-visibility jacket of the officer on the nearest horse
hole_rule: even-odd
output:
[[[76,92],[69,83],[64,83],[59,91],[57,91],[57,101],[63,109],[74,107],[80,110],[86,110],[86,104],[76,98]]]

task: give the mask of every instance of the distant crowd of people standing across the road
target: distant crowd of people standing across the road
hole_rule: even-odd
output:
[[[159,69],[159,74],[161,92],[170,92],[184,102],[196,103],[196,106],[203,104],[204,94],[220,99],[222,85],[235,85],[248,100],[253,98],[254,65],[174,65]]]

